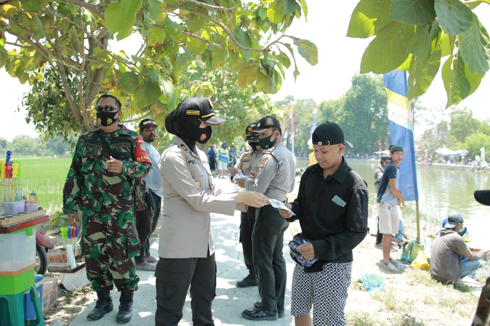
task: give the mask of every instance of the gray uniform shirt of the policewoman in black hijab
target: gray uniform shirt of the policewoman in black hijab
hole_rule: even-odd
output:
[[[206,153],[197,147],[196,152],[175,137],[160,159],[163,213],[158,255],[163,258],[207,257],[208,248],[212,255],[210,213],[233,215],[238,209],[237,193],[218,188]]]

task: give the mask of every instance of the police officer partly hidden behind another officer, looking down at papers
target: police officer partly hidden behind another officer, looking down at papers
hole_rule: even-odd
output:
[[[230,181],[235,182],[236,174],[240,169],[245,176],[255,178],[259,172],[259,166],[261,163],[264,149],[259,145],[259,135],[252,130],[257,128],[257,123],[251,123],[245,128],[245,140],[252,147],[251,149],[244,151],[238,162],[230,171]],[[237,177],[238,179],[238,177]],[[257,286],[258,280],[255,275],[255,268],[253,268],[252,258],[252,231],[255,224],[255,207],[248,207],[246,212],[241,213],[240,221],[240,242],[242,243],[242,249],[244,252],[244,262],[248,269],[248,275],[244,279],[238,280],[237,287]]]

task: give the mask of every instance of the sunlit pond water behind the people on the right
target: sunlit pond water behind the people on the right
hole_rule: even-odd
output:
[[[359,173],[368,183],[369,207],[375,204],[373,174],[379,161],[347,159],[350,167]],[[308,161],[297,159],[297,167],[308,166]],[[420,217],[420,240],[426,248],[432,247],[433,237],[441,228],[442,220],[452,210],[458,210],[465,218],[471,246],[490,249],[489,218],[490,206],[478,203],[474,197],[475,190],[490,189],[490,173],[476,171],[474,168],[456,165],[417,164],[418,206]],[[402,207],[406,223],[412,223],[406,230],[410,238],[416,238],[416,205],[407,202]],[[369,212],[370,216],[370,212]]]

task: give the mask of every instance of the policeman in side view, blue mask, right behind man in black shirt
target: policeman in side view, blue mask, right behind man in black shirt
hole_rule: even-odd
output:
[[[240,181],[240,186],[285,202],[287,193],[294,189],[296,159],[282,142],[281,125],[275,117],[265,116],[253,131],[259,135],[259,145],[266,151],[257,177]],[[289,223],[272,206],[256,210],[252,252],[262,300],[254,304],[254,309],[242,312],[246,319],[277,320],[278,316],[284,317],[286,261],[282,249],[284,231],[288,226]]]

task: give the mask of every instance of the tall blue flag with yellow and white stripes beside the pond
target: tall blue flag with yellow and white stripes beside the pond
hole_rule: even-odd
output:
[[[392,70],[384,74],[388,95],[388,120],[391,143],[403,146],[405,156],[400,168],[400,189],[406,201],[418,200],[415,167],[414,123],[407,96],[407,72]]]

